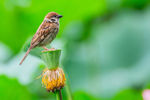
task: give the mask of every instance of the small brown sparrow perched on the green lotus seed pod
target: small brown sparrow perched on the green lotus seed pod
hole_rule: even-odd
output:
[[[46,51],[51,50],[46,48],[46,45],[50,44],[55,39],[59,31],[59,18],[61,17],[62,15],[59,15],[56,12],[49,12],[45,16],[43,22],[32,38],[29,49],[27,50],[19,65],[23,63],[31,49],[35,47],[42,47]]]

